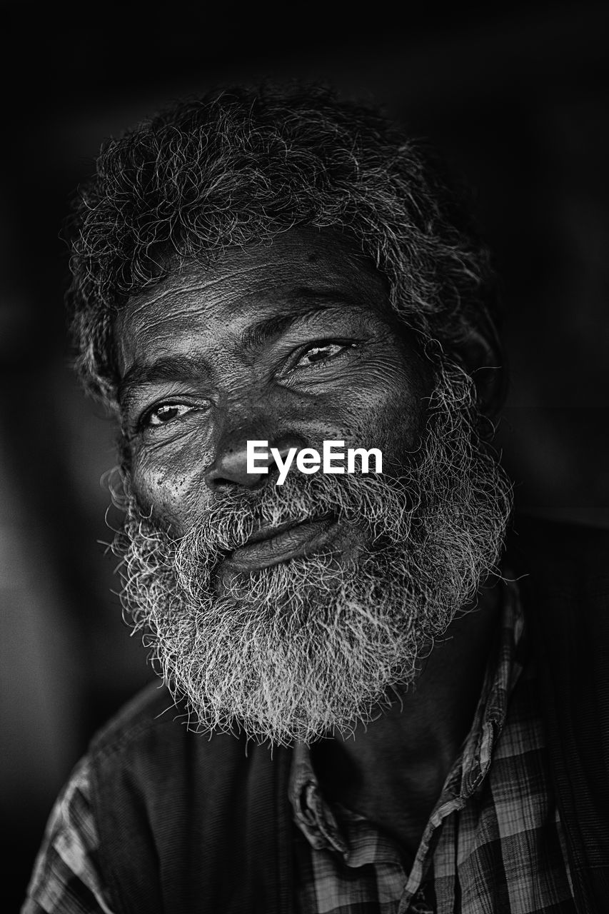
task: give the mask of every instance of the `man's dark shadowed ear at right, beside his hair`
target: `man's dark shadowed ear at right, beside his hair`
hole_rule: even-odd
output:
[[[495,421],[508,394],[506,356],[495,325],[469,327],[463,341],[454,344],[454,353],[472,377],[481,413]]]

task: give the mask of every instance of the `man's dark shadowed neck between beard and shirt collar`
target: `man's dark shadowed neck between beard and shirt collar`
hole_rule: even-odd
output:
[[[329,802],[361,813],[413,851],[472,726],[497,636],[500,583],[448,628],[404,694],[353,738],[316,743],[315,771]]]

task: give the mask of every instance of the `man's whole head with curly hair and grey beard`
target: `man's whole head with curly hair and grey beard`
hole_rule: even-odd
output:
[[[471,377],[492,298],[457,211],[411,143],[321,90],[178,105],[100,158],[79,367],[121,416],[125,604],[203,728],[353,727],[497,562],[508,484]],[[246,472],[252,440],[379,448],[384,473],[277,486]]]

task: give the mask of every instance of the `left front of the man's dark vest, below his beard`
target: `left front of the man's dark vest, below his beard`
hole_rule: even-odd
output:
[[[287,820],[287,749],[188,723],[185,707],[153,685],[91,741],[98,859],[117,910],[168,910],[171,898],[171,910],[187,911],[198,909],[194,898],[217,896],[209,909],[227,909],[243,866],[257,848],[272,859]]]

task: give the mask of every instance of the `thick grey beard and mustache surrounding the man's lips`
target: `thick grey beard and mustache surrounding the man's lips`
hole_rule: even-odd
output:
[[[114,547],[123,606],[199,730],[311,743],[369,721],[411,684],[497,571],[510,485],[476,419],[469,378],[444,370],[425,441],[399,477],[292,473],[215,497],[179,539],[126,496]],[[218,587],[219,562],[258,526],[326,513],[363,533],[356,558],[293,558]]]

